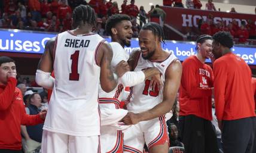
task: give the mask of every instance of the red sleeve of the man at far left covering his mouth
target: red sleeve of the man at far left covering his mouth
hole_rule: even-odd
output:
[[[17,84],[17,80],[10,77],[7,80],[7,86],[2,93],[0,93],[0,110],[6,110],[12,103],[14,98],[14,91]]]

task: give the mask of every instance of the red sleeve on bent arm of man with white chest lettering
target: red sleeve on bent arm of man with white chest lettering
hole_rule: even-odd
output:
[[[190,98],[202,98],[203,96],[211,96],[211,89],[199,88],[196,79],[197,65],[193,61],[187,60],[182,63],[181,85],[185,89]]]

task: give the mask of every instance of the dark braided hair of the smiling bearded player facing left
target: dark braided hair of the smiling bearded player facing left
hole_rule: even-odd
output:
[[[151,30],[151,32],[154,33],[155,36],[158,36],[160,39],[160,42],[164,42],[164,33],[163,33],[163,28],[160,26],[158,23],[154,22],[149,22],[146,23],[143,27],[143,30]]]

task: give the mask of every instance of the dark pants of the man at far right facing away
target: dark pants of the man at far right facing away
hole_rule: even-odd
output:
[[[252,153],[254,144],[256,118],[223,121],[224,153]]]

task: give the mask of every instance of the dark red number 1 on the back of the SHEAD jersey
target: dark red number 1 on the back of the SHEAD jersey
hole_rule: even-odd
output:
[[[71,64],[71,73],[69,73],[69,80],[72,80],[72,81],[79,80],[78,57],[79,57],[79,51],[75,51],[74,54],[72,54],[70,57],[70,59],[72,60],[72,64]]]

